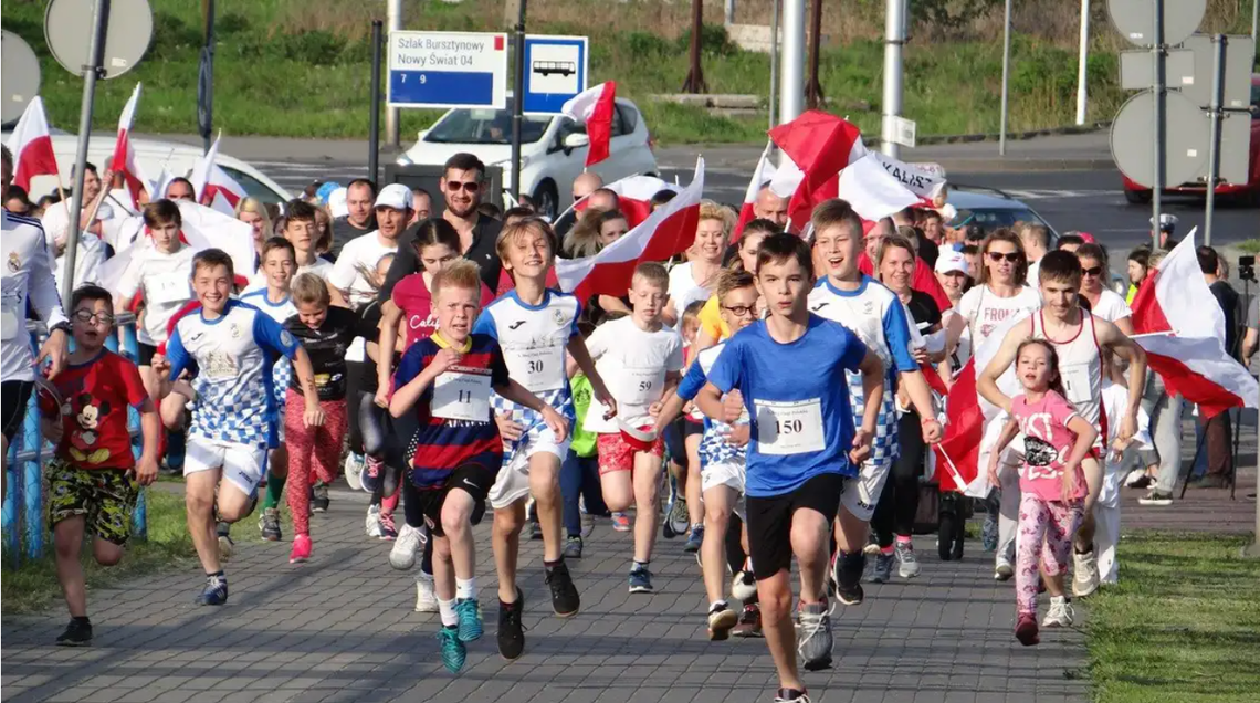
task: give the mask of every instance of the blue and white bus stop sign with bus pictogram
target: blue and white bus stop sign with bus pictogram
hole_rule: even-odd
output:
[[[586,89],[586,37],[525,35],[525,89],[522,108],[533,115],[559,115],[564,101]]]

